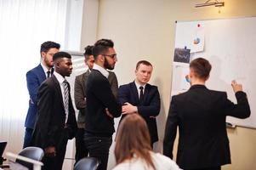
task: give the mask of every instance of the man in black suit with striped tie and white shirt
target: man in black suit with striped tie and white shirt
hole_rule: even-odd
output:
[[[72,71],[71,55],[54,54],[54,75],[38,91],[36,127],[32,145],[44,150],[43,169],[60,170],[68,139],[77,133],[77,121],[71,101],[70,85],[65,80]]]

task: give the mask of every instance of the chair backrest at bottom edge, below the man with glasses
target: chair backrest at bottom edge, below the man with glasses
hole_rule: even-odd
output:
[[[77,161],[74,170],[96,170],[100,165],[100,161],[95,157],[84,157]]]

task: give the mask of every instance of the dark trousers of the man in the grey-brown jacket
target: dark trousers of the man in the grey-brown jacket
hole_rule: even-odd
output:
[[[76,135],[76,163],[77,161],[81,160],[83,157],[88,156],[88,149],[86,148],[84,141],[83,141],[83,133],[84,128],[77,129]]]

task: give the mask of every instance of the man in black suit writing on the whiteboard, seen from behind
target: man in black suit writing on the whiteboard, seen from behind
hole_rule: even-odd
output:
[[[230,163],[226,116],[247,118],[250,107],[242,85],[231,86],[237,105],[227,99],[225,92],[205,87],[211,71],[207,59],[194,59],[190,64],[191,88],[184,94],[173,96],[163,141],[163,154],[173,158],[174,140],[179,126],[177,164],[179,167],[200,170],[219,170]]]

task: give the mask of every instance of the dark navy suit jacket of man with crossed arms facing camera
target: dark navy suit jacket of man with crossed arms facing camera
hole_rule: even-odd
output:
[[[144,99],[142,104],[139,104],[139,94],[135,82],[130,82],[120,86],[118,90],[118,99],[122,105],[125,102],[128,102],[131,105],[138,107],[139,115],[145,119],[149,128],[151,142],[156,142],[158,140],[156,116],[159,115],[160,112],[160,95],[157,87],[147,83],[145,85]],[[124,116],[122,116],[122,118],[123,117]]]

